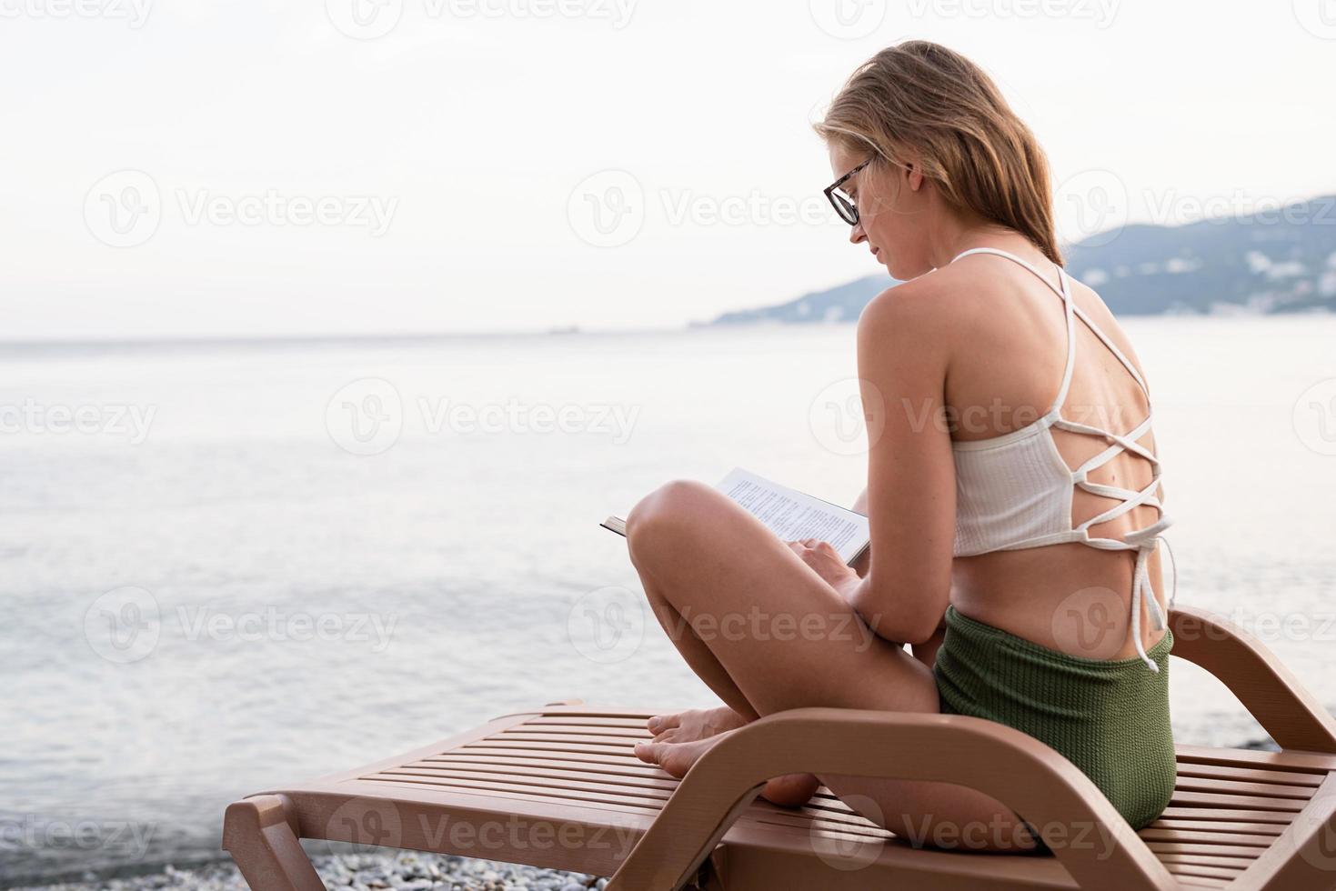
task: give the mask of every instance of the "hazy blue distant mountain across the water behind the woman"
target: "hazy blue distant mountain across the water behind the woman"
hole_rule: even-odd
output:
[[[1336,310],[1336,195],[1186,226],[1126,226],[1066,248],[1067,271],[1120,315]],[[896,285],[868,275],[707,325],[854,322]]]

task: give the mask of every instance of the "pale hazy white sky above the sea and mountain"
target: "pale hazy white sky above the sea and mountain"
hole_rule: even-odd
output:
[[[1336,191],[1336,0],[0,0],[0,339],[680,325],[879,271],[810,123],[979,61],[1070,238]]]

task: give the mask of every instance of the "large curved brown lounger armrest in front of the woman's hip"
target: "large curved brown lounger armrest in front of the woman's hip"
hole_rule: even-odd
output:
[[[608,891],[668,891],[689,880],[767,780],[786,773],[939,780],[1003,801],[1043,834],[1082,887],[1177,887],[1075,765],[1038,740],[975,717],[842,708],[766,716],[720,740],[687,773]],[[1075,843],[1083,828],[1086,844]]]

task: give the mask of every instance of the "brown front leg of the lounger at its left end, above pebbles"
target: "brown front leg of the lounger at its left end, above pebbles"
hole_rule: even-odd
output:
[[[251,891],[325,891],[298,836],[291,806],[282,795],[236,801],[223,818],[223,850],[232,855]]]

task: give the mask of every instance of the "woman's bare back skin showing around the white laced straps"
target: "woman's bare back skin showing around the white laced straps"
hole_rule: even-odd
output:
[[[954,421],[953,442],[991,439],[1034,423],[1058,393],[1067,353],[1062,301],[1051,289],[1017,264],[971,259],[959,269],[933,273],[951,275],[951,291],[962,295],[953,307],[961,325],[945,386]],[[1035,266],[1057,283],[1051,263],[1041,258]],[[1090,289],[1070,283],[1075,306],[1140,373],[1132,343],[1109,309]],[[1141,386],[1089,326],[1077,323],[1074,333],[1074,369],[1063,417],[1126,434],[1149,411]],[[1059,429],[1053,430],[1053,442],[1067,468],[1079,466],[1109,445],[1104,438]],[[1149,431],[1137,442],[1156,450]],[[1145,458],[1124,452],[1092,470],[1089,480],[1140,490],[1152,482],[1152,468]],[[1081,524],[1114,504],[1077,488],[1071,521]],[[1156,514],[1154,508],[1137,506],[1092,525],[1090,533],[1122,538],[1156,522]],[[1136,644],[1126,633],[1134,564],[1134,553],[1074,542],[957,557],[951,601],[967,616],[1045,647],[1090,659],[1126,659],[1136,655]],[[1150,556],[1148,568],[1154,596],[1162,604],[1158,553]],[[1148,649],[1162,636],[1145,620],[1141,629]]]

